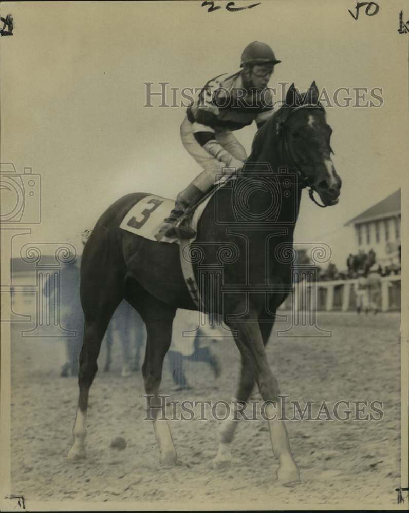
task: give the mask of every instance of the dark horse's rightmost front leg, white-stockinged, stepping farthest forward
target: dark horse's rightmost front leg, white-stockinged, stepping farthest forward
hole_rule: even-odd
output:
[[[238,332],[235,338],[243,366],[252,370],[260,394],[269,404],[265,408],[274,455],[278,458],[277,478],[282,483],[300,481],[300,472],[291,453],[287,429],[280,419],[281,400],[278,382],[268,364],[263,338],[257,321],[230,322],[229,327]],[[236,421],[233,421],[236,422]]]

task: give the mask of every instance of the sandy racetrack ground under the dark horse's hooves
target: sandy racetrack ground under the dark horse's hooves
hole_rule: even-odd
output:
[[[113,369],[100,370],[90,393],[87,459],[66,458],[77,402],[76,378],[60,378],[61,342],[12,342],[12,492],[33,501],[124,501],[122,508],[377,508],[396,506],[400,486],[400,346],[397,314],[357,317],[319,313],[332,338],[276,338],[268,345],[281,392],[306,401],[383,401],[379,421],[288,421],[302,483],[278,486],[277,461],[262,420],[242,421],[229,469],[213,470],[218,424],[174,421],[179,465],[159,465],[153,426],[144,421],[140,373],[121,377],[121,348]],[[285,327],[281,324],[280,329]],[[220,357],[218,380],[203,363],[188,363],[192,390],[177,392],[167,366],[162,392],[171,400],[226,400],[238,376],[239,353],[231,340],[213,346]],[[102,348],[100,369],[104,362]],[[257,397],[255,393],[254,397]],[[325,416],[324,416],[325,417]],[[125,450],[110,448],[121,436]],[[51,504],[51,503],[49,503]],[[111,506],[109,506],[109,504]],[[55,507],[55,503],[54,503]],[[403,506],[404,507],[404,506]]]

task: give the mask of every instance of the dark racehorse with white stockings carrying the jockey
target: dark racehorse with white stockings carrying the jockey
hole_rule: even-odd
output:
[[[244,194],[242,203],[248,209],[250,220],[262,221],[255,228],[249,225],[247,230],[240,232],[234,228],[237,214],[231,188],[220,187],[217,195],[210,198],[197,225],[195,244],[201,248],[205,263],[214,262],[215,254],[219,255],[220,250],[223,252],[226,245],[235,248],[234,258],[227,259],[224,267],[223,284],[231,287],[231,292],[224,294],[222,305],[212,301],[213,292],[201,306],[193,301],[183,279],[177,244],[147,240],[120,229],[129,209],[148,193],[127,194],[101,215],[85,245],[81,262],[80,295],[85,325],[78,378],[79,398],[69,458],[86,455],[89,389],[98,370],[98,353],[109,319],[120,301],[125,299],[139,312],[146,326],[142,373],[145,392],[151,397],[147,410],[153,420],[160,462],[177,464],[170,427],[159,415],[165,405],[158,396],[175,312],[178,308],[213,308],[213,313],[221,315],[234,334],[240,351],[236,399],[246,403],[257,384],[267,404],[268,419],[272,419],[268,425],[272,450],[278,458],[277,480],[283,484],[300,481],[286,426],[279,416],[274,415],[280,411],[281,394],[267,360],[265,345],[276,309],[287,297],[288,286],[292,283],[290,260],[280,258],[278,250],[283,244],[292,248],[302,190],[308,187],[311,199],[322,207],[339,201],[341,179],[331,160],[331,132],[315,82],[302,94],[292,84],[283,105],[257,131],[246,166],[236,173],[237,179],[244,178],[245,182],[248,179],[248,188],[241,188],[240,198]],[[288,181],[277,181],[280,208],[273,209],[276,212],[273,224],[268,220],[264,223],[263,216],[272,207],[272,193],[266,190],[266,181],[283,170],[295,176],[293,192],[287,191]],[[315,200],[314,193],[319,195],[322,204]],[[225,222],[215,220],[216,210]],[[280,228],[275,229],[276,226]],[[197,274],[198,265],[194,265]],[[266,283],[269,292],[260,293],[259,287]],[[215,287],[214,294],[219,292]],[[231,418],[222,423],[214,468],[224,467],[232,461],[236,427],[237,422]]]

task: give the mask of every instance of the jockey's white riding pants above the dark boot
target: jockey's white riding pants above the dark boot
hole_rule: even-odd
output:
[[[223,173],[225,164],[215,159],[200,146],[193,134],[193,124],[187,117],[184,118],[180,125],[180,137],[187,152],[192,155],[195,161],[204,169],[203,172],[196,176],[192,184],[202,192],[207,192],[214,184],[216,176]],[[216,133],[215,139],[235,159],[240,161],[246,159],[246,150],[229,130]]]

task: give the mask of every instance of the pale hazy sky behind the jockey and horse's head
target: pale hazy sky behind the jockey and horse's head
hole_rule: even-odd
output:
[[[357,20],[348,12],[356,3],[344,0],[262,0],[240,12],[215,4],[222,8],[207,12],[200,0],[2,2],[15,30],[1,38],[1,161],[41,175],[33,239],[76,243],[129,192],[175,198],[200,172],[180,141],[185,111],[159,107],[157,97],[144,107],[144,83],[202,87],[238,71],[244,47],[259,40],[282,61],[270,87],[295,82],[305,91],[315,80],[330,95],[382,88],[379,108],[327,108],[341,200],[324,210],[304,193],[301,203],[295,240],[326,242],[344,261],[352,235],[344,224],[407,176],[409,36],[397,31],[404,2],[379,2],[376,15],[362,9]],[[235,132],[248,153],[255,131]],[[10,200],[4,191],[2,200]]]

